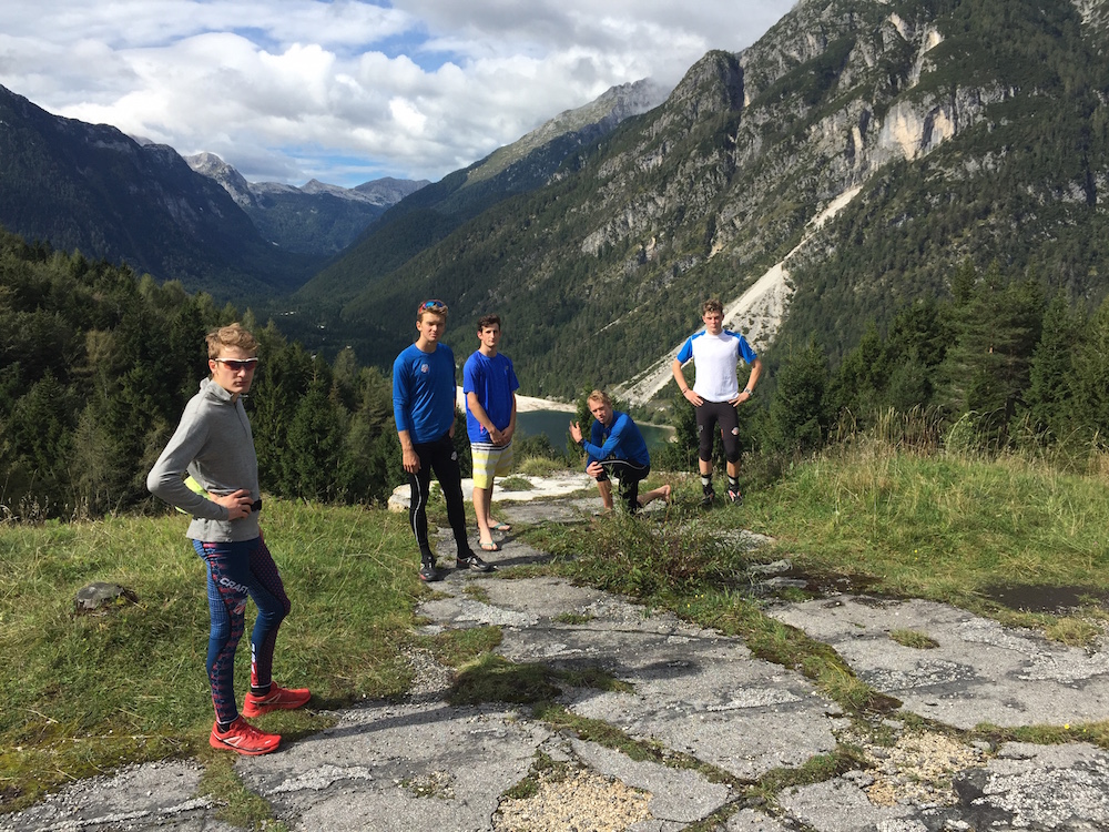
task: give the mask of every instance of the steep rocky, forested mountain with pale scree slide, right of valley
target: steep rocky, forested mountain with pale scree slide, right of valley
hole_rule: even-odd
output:
[[[480,313],[507,312],[521,384],[559,396],[629,388],[664,366],[709,295],[730,305],[732,325],[755,325],[737,301],[767,276],[786,312],[759,347],[773,337],[781,355],[813,338],[832,362],[868,322],[945,295],[967,260],[1096,302],[1105,10],[802,0],[750,49],[706,54],[664,103],[568,158],[545,186],[383,276],[365,257],[377,226],[295,296],[327,281],[333,343],[380,362],[408,337],[390,314],[419,297],[452,304],[456,344],[471,343],[466,323]]]

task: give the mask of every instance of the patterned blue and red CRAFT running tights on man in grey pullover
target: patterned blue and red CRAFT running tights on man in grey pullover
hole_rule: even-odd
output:
[[[277,565],[265,540],[236,542],[202,542],[193,548],[207,565],[208,610],[212,630],[208,635],[207,672],[212,684],[212,704],[217,722],[234,722],[238,717],[235,702],[235,649],[243,637],[246,598],[258,608],[251,632],[251,684],[267,688],[273,681],[274,645],[277,628],[288,615],[291,605],[285,595]]]

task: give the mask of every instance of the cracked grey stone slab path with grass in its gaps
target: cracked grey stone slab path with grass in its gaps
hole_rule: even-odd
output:
[[[505,514],[512,522],[537,514],[570,521],[593,503]],[[543,555],[509,539],[497,557]],[[882,722],[891,742],[878,747],[800,672],[670,613],[552,578],[452,571],[435,588],[418,610],[428,632],[495,626],[503,635],[497,652],[513,662],[602,669],[622,682],[618,690],[567,688],[560,702],[668,750],[671,764],[556,731],[527,708],[452,707],[449,671],[416,655],[407,701],[336,712],[333,728],[236,763],[289,829],[676,832],[710,816],[728,832],[1109,829],[1109,752],[1081,742],[993,748],[945,729],[1109,719],[1105,652],[917,600],[842,595],[770,606],[903,702]],[[898,629],[937,646],[903,647],[889,638]],[[909,714],[930,730],[912,728]],[[785,788],[776,805],[746,802],[745,783],[837,743],[861,748],[867,764]],[[540,763],[573,772],[573,788],[540,777],[530,795],[507,798]],[[0,831],[233,829],[199,783],[189,762],[131,767],[2,815]]]

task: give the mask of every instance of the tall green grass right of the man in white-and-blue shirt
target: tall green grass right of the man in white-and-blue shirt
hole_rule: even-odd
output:
[[[857,453],[800,466],[744,514],[813,571],[861,574],[897,595],[983,609],[997,584],[1109,591],[1101,478],[1019,457]]]

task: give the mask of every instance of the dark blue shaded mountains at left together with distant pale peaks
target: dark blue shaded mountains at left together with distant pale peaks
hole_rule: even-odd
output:
[[[0,225],[221,300],[296,288],[426,184],[252,184],[213,154],[183,159],[0,87]]]

